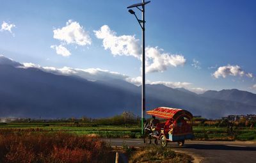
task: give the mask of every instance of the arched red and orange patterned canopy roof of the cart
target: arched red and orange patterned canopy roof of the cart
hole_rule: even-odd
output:
[[[175,109],[171,107],[157,107],[152,111],[147,111],[147,114],[164,119],[173,118],[174,120],[180,116],[185,116],[189,119],[193,118],[193,115],[189,113],[189,111],[183,109]]]

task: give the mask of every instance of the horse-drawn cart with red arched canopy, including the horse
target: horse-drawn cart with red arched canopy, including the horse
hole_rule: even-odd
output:
[[[148,137],[149,143],[151,143],[151,138],[154,138],[154,143],[157,144],[159,140],[163,147],[168,142],[177,142],[182,146],[186,139],[194,138],[192,130],[193,115],[189,111],[170,107],[157,107],[152,111],[147,111],[147,114],[156,116],[157,118],[163,118],[166,121],[157,123],[156,127],[145,123],[144,143],[147,142],[146,137]]]

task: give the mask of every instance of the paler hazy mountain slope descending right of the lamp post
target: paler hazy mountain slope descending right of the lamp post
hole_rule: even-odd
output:
[[[218,118],[228,114],[244,114],[255,113],[256,107],[242,104],[239,102],[231,102],[227,100],[218,100],[200,97],[199,95],[191,95],[177,89],[168,88],[163,85],[147,85],[147,95],[161,99],[159,105],[167,105],[170,107],[178,107],[191,111],[194,115],[202,115],[207,118]],[[155,100],[156,100],[155,99]],[[150,105],[153,108],[156,105]]]

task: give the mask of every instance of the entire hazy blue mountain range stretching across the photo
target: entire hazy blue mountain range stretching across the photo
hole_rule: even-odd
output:
[[[196,94],[162,84],[146,85],[146,108],[186,109],[205,118],[228,114],[255,114],[256,95],[228,89]],[[131,111],[141,114],[141,87],[122,79],[88,81],[78,75],[26,68],[0,56],[0,118],[90,118]]]

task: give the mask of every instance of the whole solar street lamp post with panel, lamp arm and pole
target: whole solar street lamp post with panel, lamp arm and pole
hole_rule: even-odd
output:
[[[133,10],[129,10],[129,13],[134,15],[140,24],[142,29],[142,86],[141,86],[141,134],[143,134],[143,125],[145,121],[145,4],[150,3],[150,1],[145,2],[142,0],[142,3],[132,4],[127,8],[138,8],[142,13],[142,20],[138,19],[136,13]],[[140,6],[142,8],[140,8]]]

